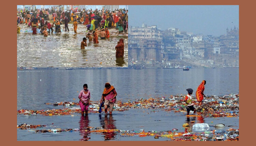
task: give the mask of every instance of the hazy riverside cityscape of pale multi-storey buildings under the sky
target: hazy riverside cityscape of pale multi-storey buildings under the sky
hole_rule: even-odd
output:
[[[128,29],[129,67],[177,68],[181,66],[239,67],[239,29],[227,28],[221,36],[193,34],[157,25]]]

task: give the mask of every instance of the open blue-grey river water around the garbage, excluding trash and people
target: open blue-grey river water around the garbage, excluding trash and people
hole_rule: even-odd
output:
[[[91,101],[99,101],[104,84],[109,82],[117,91],[117,99],[124,102],[135,101],[139,98],[187,94],[186,89],[196,88],[202,80],[206,80],[204,94],[227,95],[239,93],[238,68],[198,68],[183,71],[182,69],[94,69],[94,70],[17,70],[17,109],[47,110],[54,109],[52,105],[44,103],[78,102],[79,91],[83,84],[88,84]],[[75,100],[73,100],[75,98]],[[79,106],[77,106],[79,107]],[[58,106],[62,108],[62,106]],[[166,131],[172,128],[184,131],[183,123],[208,123],[209,125],[223,123],[239,129],[239,118],[207,117],[198,119],[187,118],[185,113],[174,113],[154,109],[130,109],[128,111],[113,111],[109,115],[99,116],[89,113],[82,117],[79,113],[64,116],[17,115],[17,125],[28,123],[47,125],[51,128],[78,128],[80,131],[60,133],[35,133],[17,129],[18,141],[79,141],[90,138],[90,141],[118,140],[118,141],[165,141],[167,138],[154,139],[154,136],[124,137],[82,132],[83,127],[112,127],[121,130]],[[175,119],[175,120],[174,120]],[[213,122],[213,123],[211,123]],[[52,124],[54,123],[54,124]],[[164,125],[164,126],[163,126]],[[52,127],[53,126],[53,127]],[[225,127],[228,129],[230,127]],[[210,130],[215,129],[210,127]]]

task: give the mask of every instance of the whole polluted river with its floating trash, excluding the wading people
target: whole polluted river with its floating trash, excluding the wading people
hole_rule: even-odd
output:
[[[197,115],[186,116],[186,89],[195,91],[203,79],[207,97],[199,108],[193,93]],[[117,92],[113,115],[98,112],[106,82]],[[91,102],[88,116],[81,116],[85,83]],[[17,140],[237,141],[238,85],[237,68],[18,69]]]

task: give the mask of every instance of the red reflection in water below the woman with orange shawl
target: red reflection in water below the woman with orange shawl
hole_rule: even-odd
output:
[[[100,124],[101,127],[104,129],[116,129],[116,120],[113,119],[112,115],[104,115],[104,118],[101,117],[101,114],[99,114],[99,119],[100,119]],[[104,140],[108,141],[108,140],[115,140],[115,135],[116,133],[113,131],[109,131],[109,132],[103,132],[104,135]]]

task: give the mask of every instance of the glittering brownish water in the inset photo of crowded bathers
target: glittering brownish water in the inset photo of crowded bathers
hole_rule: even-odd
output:
[[[81,41],[86,36],[85,25],[78,25],[74,34],[72,24],[70,31],[48,33],[47,37],[40,34],[32,35],[31,28],[21,25],[17,34],[17,66],[18,67],[127,67],[128,36],[111,36],[100,39],[94,44],[87,39],[86,51],[81,51]],[[115,29],[110,29],[110,33]],[[125,52],[122,62],[116,61],[115,46],[120,38],[124,39]]]

